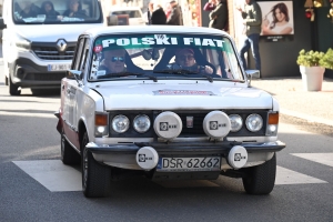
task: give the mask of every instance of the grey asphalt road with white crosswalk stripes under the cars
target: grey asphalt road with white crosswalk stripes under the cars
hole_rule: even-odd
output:
[[[10,97],[0,67],[0,221],[332,221],[333,138],[306,125],[282,118],[280,140],[287,148],[278,153],[270,195],[248,195],[241,180],[224,176],[191,183],[134,178],[113,182],[110,198],[87,199],[80,170],[59,164],[59,105],[57,91]]]

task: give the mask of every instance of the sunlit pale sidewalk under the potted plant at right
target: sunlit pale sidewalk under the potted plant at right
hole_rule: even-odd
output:
[[[333,79],[324,78],[317,92],[304,91],[301,77],[252,80],[251,85],[276,98],[282,114],[333,127]]]

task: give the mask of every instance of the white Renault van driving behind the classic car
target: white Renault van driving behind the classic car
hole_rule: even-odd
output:
[[[103,26],[98,0],[4,0],[0,29],[9,93],[60,88],[79,34],[98,26]]]

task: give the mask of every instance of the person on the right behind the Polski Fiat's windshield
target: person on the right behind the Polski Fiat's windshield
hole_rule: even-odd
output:
[[[176,64],[181,65],[182,69],[191,71],[202,71],[206,74],[213,73],[213,69],[209,65],[204,65],[203,70],[200,70],[200,67],[196,64],[194,58],[194,51],[190,48],[176,50],[174,61]]]

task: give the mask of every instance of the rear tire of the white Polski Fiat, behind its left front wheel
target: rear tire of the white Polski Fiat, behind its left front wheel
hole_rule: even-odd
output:
[[[67,139],[61,133],[61,161],[67,165],[80,164],[80,154],[70,145]]]

